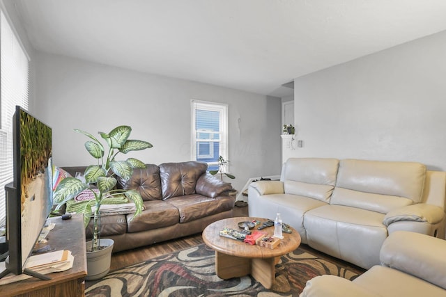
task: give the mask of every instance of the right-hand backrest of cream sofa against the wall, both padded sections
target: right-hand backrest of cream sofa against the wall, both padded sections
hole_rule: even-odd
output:
[[[341,160],[330,203],[387,214],[422,202],[425,177],[421,163]]]

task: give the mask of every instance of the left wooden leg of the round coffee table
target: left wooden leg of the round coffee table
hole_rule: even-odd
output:
[[[240,278],[251,272],[251,259],[215,251],[215,273],[219,278]]]

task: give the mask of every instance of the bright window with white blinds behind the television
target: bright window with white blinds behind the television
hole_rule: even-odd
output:
[[[13,181],[13,114],[15,106],[28,109],[29,58],[0,9],[0,225],[5,223],[5,185]]]

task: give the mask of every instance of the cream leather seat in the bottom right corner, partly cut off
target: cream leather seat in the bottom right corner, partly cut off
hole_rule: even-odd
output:
[[[351,282],[334,275],[307,281],[300,297],[446,296],[446,241],[397,231],[385,239],[381,264]]]

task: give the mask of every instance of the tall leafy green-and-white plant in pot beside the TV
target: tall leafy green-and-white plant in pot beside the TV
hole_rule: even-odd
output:
[[[128,158],[125,161],[117,161],[115,158],[119,153],[127,154],[135,150],[145,150],[152,147],[151,143],[146,141],[130,140],[130,132],[132,128],[129,126],[118,126],[114,128],[109,134],[99,132],[100,136],[107,143],[107,147],[102,145],[95,136],[86,131],[75,129],[75,131],[84,134],[91,138],[91,141],[86,141],[85,148],[96,159],[97,163],[88,166],[84,173],[85,181],[77,177],[67,177],[63,179],[59,186],[54,191],[54,203],[59,204],[60,208],[68,200],[74,199],[82,191],[91,191],[94,199],[85,204],[84,209],[79,211],[84,214],[84,224],[87,226],[91,217],[93,217],[93,239],[87,243],[87,259],[93,257],[95,260],[94,266],[89,266],[87,263],[87,279],[98,279],[105,276],[109,271],[110,259],[112,255],[113,241],[112,239],[100,239],[100,207],[104,200],[112,198],[117,195],[125,195],[128,200],[134,202],[135,213],[134,217],[139,216],[143,209],[143,202],[139,192],[134,190],[116,189],[116,176],[121,179],[128,180],[132,176],[133,168],[145,168],[145,164],[138,159]],[[107,151],[106,151],[107,148]],[[94,211],[92,211],[92,207]],[[107,268],[98,268],[97,253],[105,253],[105,241],[108,242],[107,255],[108,260],[105,260]],[[111,244],[111,248],[110,248]],[[102,269],[105,269],[102,271]]]

